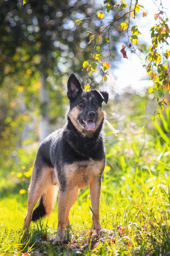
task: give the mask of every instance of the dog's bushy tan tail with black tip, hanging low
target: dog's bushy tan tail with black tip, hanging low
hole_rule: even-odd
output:
[[[41,196],[40,203],[32,213],[32,221],[49,215],[54,208],[57,196],[57,188],[55,185],[50,185],[46,192]]]

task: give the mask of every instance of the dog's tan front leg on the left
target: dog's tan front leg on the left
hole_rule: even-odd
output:
[[[66,240],[65,238],[65,226],[66,226],[66,210],[67,210],[67,203],[70,195],[69,189],[61,189],[59,187],[59,201],[58,201],[58,228],[57,228],[57,235],[53,242],[56,244],[59,241]]]

